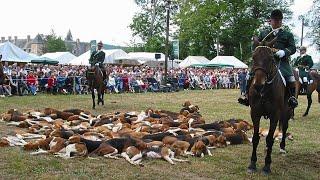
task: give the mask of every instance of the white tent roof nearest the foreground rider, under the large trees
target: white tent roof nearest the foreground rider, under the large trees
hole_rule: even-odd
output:
[[[240,61],[239,59],[237,59],[234,56],[217,56],[215,58],[213,58],[208,65],[210,64],[214,64],[214,65],[230,65],[233,66],[234,68],[244,68],[247,69],[248,66],[243,63],[242,61]]]

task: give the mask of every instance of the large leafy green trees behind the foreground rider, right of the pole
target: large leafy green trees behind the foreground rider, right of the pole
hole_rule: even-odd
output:
[[[182,58],[203,55],[211,59],[217,54],[251,57],[251,37],[266,24],[268,15],[280,8],[291,18],[290,0],[215,0],[180,1],[175,22],[179,27]]]

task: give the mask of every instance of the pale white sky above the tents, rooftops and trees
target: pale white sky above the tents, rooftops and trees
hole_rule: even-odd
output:
[[[291,7],[294,33],[299,37],[298,16],[307,13],[311,5],[312,0],[295,0]],[[6,39],[49,34],[51,29],[65,38],[70,29],[73,38],[80,41],[101,40],[124,46],[130,44],[132,32],[128,26],[139,11],[134,0],[1,0],[0,7],[0,36]],[[309,41],[305,43],[308,46]]]

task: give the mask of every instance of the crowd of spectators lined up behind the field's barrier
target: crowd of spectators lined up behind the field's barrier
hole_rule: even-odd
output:
[[[0,96],[48,94],[87,94],[86,66],[17,65],[4,63],[5,81]],[[240,88],[244,93],[246,70],[234,69],[171,69],[164,81],[164,69],[147,66],[108,66],[106,92],[158,92],[194,89]]]

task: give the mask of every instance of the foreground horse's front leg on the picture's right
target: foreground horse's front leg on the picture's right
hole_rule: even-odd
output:
[[[266,144],[267,144],[267,155],[265,157],[265,164],[263,167],[263,173],[264,174],[270,174],[271,173],[271,153],[272,153],[272,146],[274,143],[274,132],[277,128],[278,121],[280,119],[280,112],[276,111],[270,116],[270,127],[269,127],[269,133],[266,138]]]

